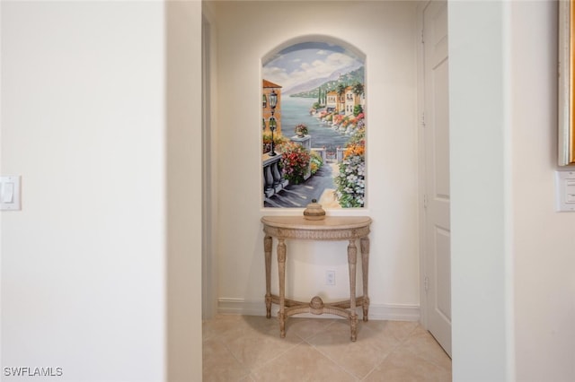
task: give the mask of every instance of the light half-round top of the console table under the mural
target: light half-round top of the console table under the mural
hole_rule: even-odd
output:
[[[351,230],[371,224],[367,216],[326,216],[325,219],[307,220],[304,216],[263,216],[261,222],[274,228],[291,230]]]

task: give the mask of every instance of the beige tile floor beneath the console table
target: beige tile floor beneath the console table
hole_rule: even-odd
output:
[[[451,381],[451,360],[416,322],[358,323],[289,317],[279,338],[277,317],[217,316],[203,325],[203,380]]]

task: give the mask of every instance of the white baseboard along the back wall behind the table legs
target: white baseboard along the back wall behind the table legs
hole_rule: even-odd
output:
[[[222,315],[240,315],[240,316],[265,316],[266,304],[261,300],[244,300],[244,299],[218,299],[217,312]],[[278,306],[273,304],[271,307],[272,316],[277,316]],[[358,309],[358,315],[361,317],[361,309]],[[338,317],[334,315],[316,316],[313,314],[301,314],[297,317]],[[340,317],[341,318],[341,317]],[[388,320],[388,321],[419,321],[419,305],[399,305],[399,304],[370,304],[369,319]]]

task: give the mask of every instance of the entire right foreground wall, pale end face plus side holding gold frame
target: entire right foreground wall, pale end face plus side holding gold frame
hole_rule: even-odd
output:
[[[572,380],[575,214],[554,210],[557,3],[453,2],[449,35],[454,380]]]

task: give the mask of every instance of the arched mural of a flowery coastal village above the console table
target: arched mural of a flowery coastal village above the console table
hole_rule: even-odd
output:
[[[262,63],[263,205],[361,208],[366,201],[365,63],[304,42]]]

